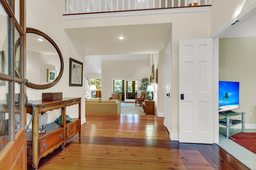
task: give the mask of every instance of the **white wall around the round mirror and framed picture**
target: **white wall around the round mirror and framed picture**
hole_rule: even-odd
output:
[[[26,26],[39,29],[46,33],[58,45],[64,60],[64,72],[60,81],[53,87],[45,90],[26,88],[28,100],[41,100],[43,92],[62,92],[63,97],[81,97],[82,123],[85,122],[85,90],[83,87],[69,86],[69,59],[76,59],[85,63],[85,47],[77,39],[68,35],[63,28],[63,9],[66,9],[64,0],[27,0],[26,1]],[[85,64],[84,64],[85,65]],[[28,66],[27,66],[28,67]],[[83,69],[83,75],[85,75]],[[84,76],[83,76],[84,77]],[[29,80],[33,82],[32,79]],[[55,111],[55,112],[54,112]],[[54,121],[59,110],[54,110],[48,115],[48,122]],[[67,107],[66,113],[70,117],[76,117],[78,105]]]

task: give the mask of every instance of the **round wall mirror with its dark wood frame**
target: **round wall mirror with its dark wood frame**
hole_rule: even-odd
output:
[[[38,29],[26,29],[26,76],[28,87],[46,89],[54,86],[63,74],[62,54],[56,43]]]

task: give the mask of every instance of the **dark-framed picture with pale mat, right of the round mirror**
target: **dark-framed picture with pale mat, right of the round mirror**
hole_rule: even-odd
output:
[[[70,58],[69,86],[83,86],[83,63]]]

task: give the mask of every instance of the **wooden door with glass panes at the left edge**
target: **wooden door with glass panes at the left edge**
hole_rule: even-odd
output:
[[[24,0],[0,0],[0,169],[26,169]]]

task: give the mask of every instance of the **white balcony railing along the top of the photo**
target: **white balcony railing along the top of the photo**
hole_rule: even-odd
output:
[[[211,5],[211,0],[66,0],[66,2],[66,14],[93,14]]]

